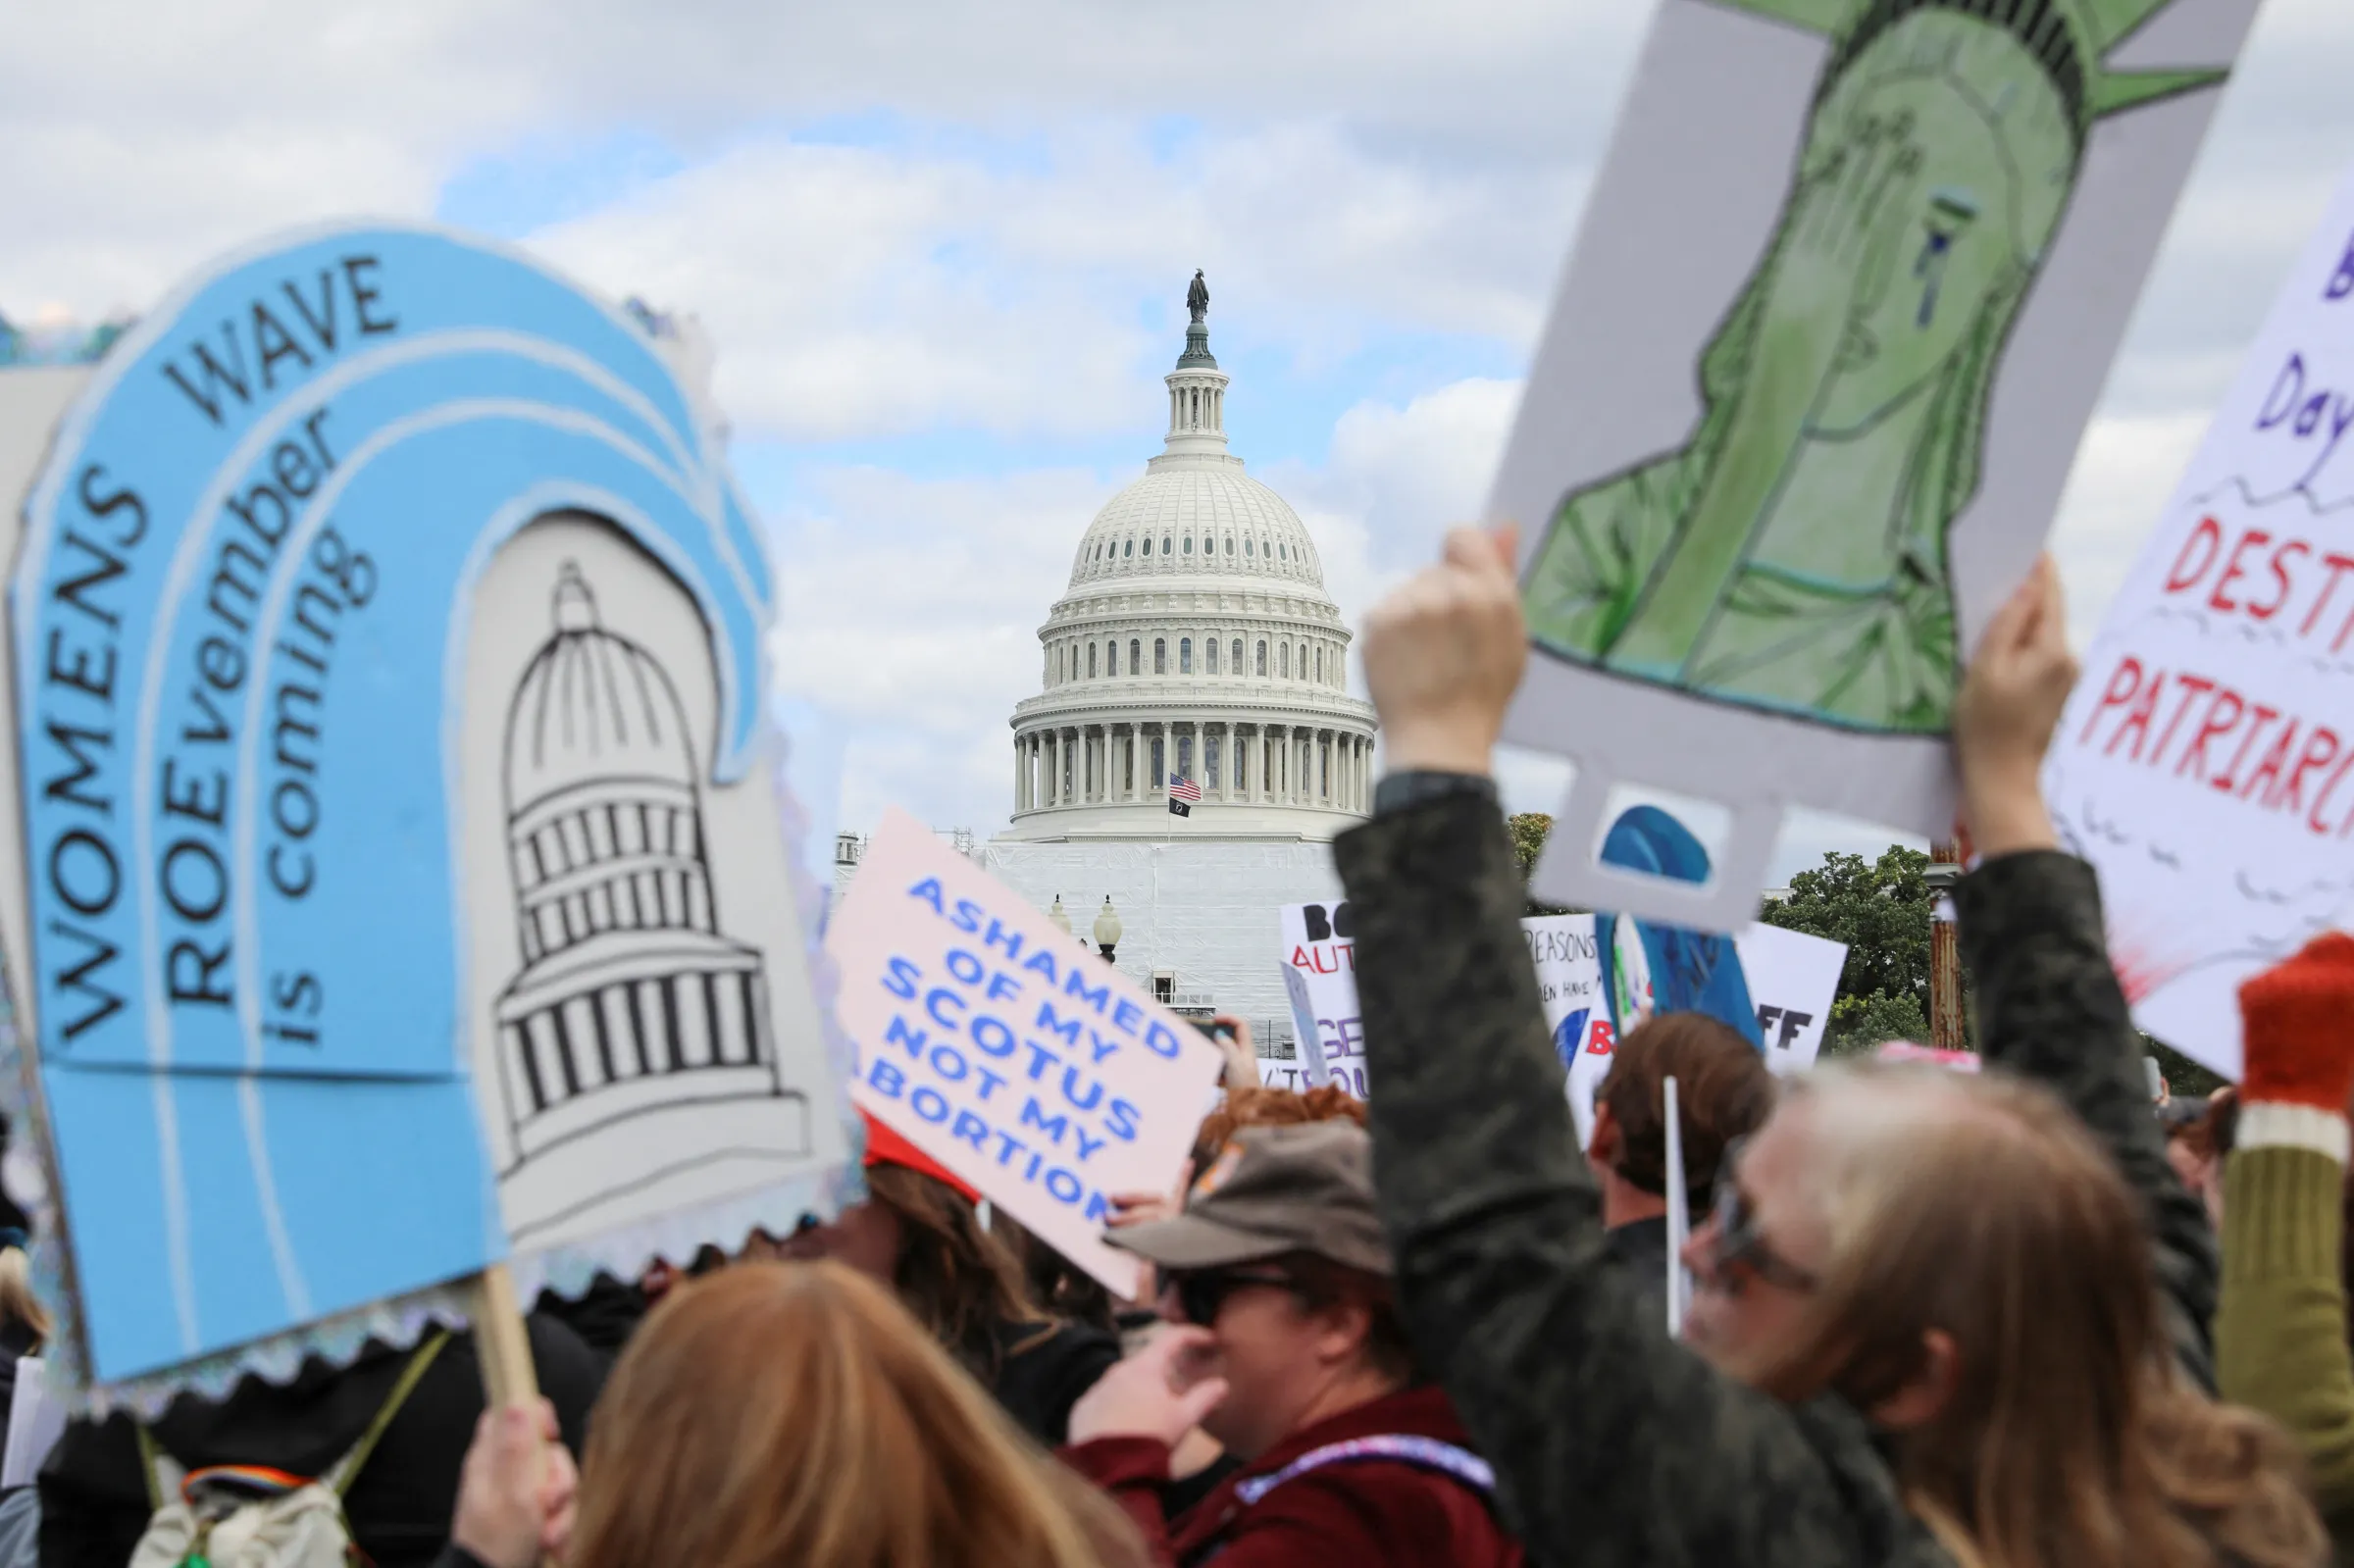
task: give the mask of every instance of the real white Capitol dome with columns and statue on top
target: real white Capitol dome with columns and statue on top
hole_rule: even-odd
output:
[[[1208,290],[1168,379],[1170,428],[1095,513],[1048,614],[1043,690],[1015,709],[1005,838],[1332,838],[1372,803],[1372,706],[1306,525],[1226,452]]]

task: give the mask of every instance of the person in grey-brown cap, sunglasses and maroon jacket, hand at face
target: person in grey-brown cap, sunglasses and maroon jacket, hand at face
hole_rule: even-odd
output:
[[[1071,1410],[1064,1462],[1158,1563],[1518,1568],[1488,1462],[1398,1323],[1363,1128],[1243,1128],[1179,1215],[1106,1241],[1156,1264],[1165,1323]],[[1193,1427],[1241,1467],[1170,1514]]]

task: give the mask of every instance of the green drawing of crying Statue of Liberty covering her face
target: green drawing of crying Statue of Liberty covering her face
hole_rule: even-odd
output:
[[[2107,71],[2175,0],[1716,0],[1834,40],[1683,447],[1563,497],[1530,633],[1850,730],[1947,727],[1947,530],[2003,344],[2107,115],[2222,71]]]

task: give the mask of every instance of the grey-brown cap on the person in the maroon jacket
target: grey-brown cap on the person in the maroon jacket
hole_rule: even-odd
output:
[[[1104,1241],[1163,1269],[1316,1253],[1389,1278],[1389,1243],[1372,1205],[1372,1140],[1351,1121],[1243,1128],[1186,1194],[1184,1212]]]

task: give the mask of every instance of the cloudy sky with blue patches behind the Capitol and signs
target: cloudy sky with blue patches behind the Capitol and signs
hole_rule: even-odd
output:
[[[1236,452],[1356,617],[1471,516],[1638,0],[12,7],[0,313],[146,308],[273,226],[435,217],[692,311],[843,817],[991,831],[1205,268]],[[2354,12],[2265,0],[2060,513],[2088,631],[2354,158]],[[1558,775],[1514,770],[1544,808]],[[1886,833],[1801,824],[1777,873]]]

